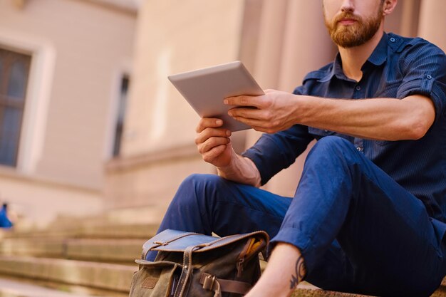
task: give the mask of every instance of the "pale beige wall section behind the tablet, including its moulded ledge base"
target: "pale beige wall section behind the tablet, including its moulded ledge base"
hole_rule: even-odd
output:
[[[110,207],[161,206],[193,172],[214,172],[194,145],[199,117],[167,75],[239,58],[244,1],[145,1],[139,14],[135,68],[123,157],[108,165]]]

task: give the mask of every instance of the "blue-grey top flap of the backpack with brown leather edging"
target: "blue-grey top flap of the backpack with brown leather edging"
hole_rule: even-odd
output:
[[[143,249],[145,251],[185,251],[188,246],[198,246],[195,252],[202,252],[208,251],[209,249],[216,249],[227,244],[232,244],[235,241],[252,236],[264,239],[266,245],[269,242],[269,236],[265,231],[235,234],[219,238],[192,232],[167,229],[152,237],[152,239],[146,241]]]

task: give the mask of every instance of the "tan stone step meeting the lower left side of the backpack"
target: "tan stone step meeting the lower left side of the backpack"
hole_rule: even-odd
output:
[[[138,266],[87,261],[47,259],[25,256],[0,256],[0,273],[39,281],[128,292]]]

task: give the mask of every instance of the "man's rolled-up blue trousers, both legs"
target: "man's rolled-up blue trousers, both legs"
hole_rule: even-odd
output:
[[[430,296],[446,273],[446,245],[424,204],[341,137],[316,143],[294,198],[211,174],[187,177],[164,229],[219,236],[264,230],[271,244],[298,247],[306,281],[326,290]]]

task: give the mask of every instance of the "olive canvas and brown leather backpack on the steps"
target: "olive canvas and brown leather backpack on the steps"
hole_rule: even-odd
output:
[[[130,297],[239,297],[259,279],[264,231],[214,237],[167,229],[145,242]],[[155,261],[145,260],[158,251]]]

